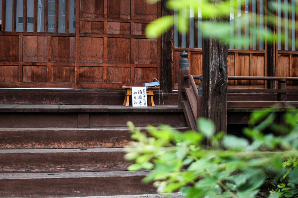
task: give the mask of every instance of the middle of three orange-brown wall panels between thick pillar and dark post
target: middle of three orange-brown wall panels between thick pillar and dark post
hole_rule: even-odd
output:
[[[250,75],[250,54],[249,53],[236,53],[235,57],[236,76],[249,76]],[[249,80],[236,80],[236,85],[249,85]]]

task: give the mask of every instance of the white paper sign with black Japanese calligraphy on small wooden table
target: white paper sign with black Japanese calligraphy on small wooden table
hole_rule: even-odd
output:
[[[147,107],[147,87],[131,87],[132,106]]]

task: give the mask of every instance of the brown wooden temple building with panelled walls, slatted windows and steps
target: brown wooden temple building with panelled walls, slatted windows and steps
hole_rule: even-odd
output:
[[[228,132],[255,108],[298,106],[298,15],[276,13],[277,34],[289,39],[272,47],[248,28],[266,26],[265,8],[266,1],[247,1],[239,6],[247,21],[231,28],[249,42],[228,50]],[[196,129],[203,55],[202,19],[193,13],[188,33],[173,27],[148,39],[146,25],[171,14],[164,1],[0,0],[0,197],[155,193],[140,182],[147,171],[127,171],[126,123]],[[231,27],[239,13],[231,13]],[[184,50],[189,69],[179,73]],[[122,106],[123,85],[153,78],[155,107]]]

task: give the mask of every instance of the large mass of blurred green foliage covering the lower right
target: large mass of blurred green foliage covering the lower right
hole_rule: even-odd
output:
[[[252,113],[246,138],[215,134],[204,118],[197,121],[199,132],[166,125],[141,132],[129,122],[135,140],[126,148],[125,159],[135,162],[129,170],[152,170],[144,182],[154,182],[159,193],[181,191],[186,198],[255,197],[268,180],[278,183],[266,190],[269,198],[297,196],[298,112],[285,112],[281,125],[274,124],[273,109]]]

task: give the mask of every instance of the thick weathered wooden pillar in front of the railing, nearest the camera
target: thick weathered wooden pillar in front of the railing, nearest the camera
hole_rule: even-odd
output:
[[[216,38],[203,40],[202,116],[214,121],[216,131],[226,131],[228,48]]]

